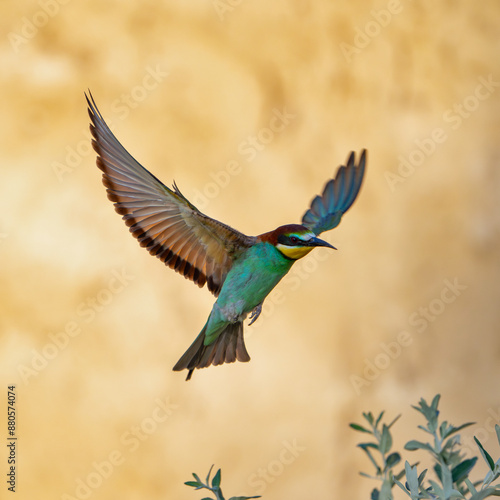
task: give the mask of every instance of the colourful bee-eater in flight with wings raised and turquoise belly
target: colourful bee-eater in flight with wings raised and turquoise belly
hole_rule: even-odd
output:
[[[349,155],[321,196],[316,196],[302,224],[280,226],[259,236],[245,236],[201,213],[173,183],[162,184],[139,164],[113,135],[95,101],[87,98],[92,145],[97,166],[115,210],[151,255],[217,297],[198,337],[174,366],[187,369],[250,361],[243,339],[243,321],[252,324],[271,290],[294,262],[313,248],[333,248],[318,238],[338,226],[356,199],[363,181],[366,151],[356,164]]]

